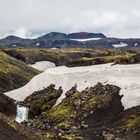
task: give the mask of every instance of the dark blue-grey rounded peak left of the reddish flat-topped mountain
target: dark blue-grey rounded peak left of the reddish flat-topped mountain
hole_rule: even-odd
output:
[[[45,40],[65,40],[68,39],[68,35],[60,32],[50,32],[46,35],[41,36],[39,39]]]

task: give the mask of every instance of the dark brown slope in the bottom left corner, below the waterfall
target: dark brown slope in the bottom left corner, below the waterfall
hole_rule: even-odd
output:
[[[0,114],[0,140],[44,140],[37,132]]]

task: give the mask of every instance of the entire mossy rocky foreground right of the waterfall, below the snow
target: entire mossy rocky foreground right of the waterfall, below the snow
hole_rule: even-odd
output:
[[[46,140],[138,140],[140,107],[124,111],[119,91],[98,83],[79,92],[75,85],[54,106],[62,89],[50,85],[21,103],[30,108],[29,122],[22,125]]]

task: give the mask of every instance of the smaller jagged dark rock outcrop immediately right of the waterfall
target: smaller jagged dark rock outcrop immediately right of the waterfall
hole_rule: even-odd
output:
[[[29,107],[29,117],[34,118],[39,116],[42,112],[50,110],[61,94],[61,87],[56,90],[55,85],[52,84],[41,91],[35,91],[21,104]]]

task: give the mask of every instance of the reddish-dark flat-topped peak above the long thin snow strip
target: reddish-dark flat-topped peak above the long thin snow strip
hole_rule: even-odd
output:
[[[106,38],[106,36],[102,33],[77,32],[69,34],[69,38],[72,39]]]

